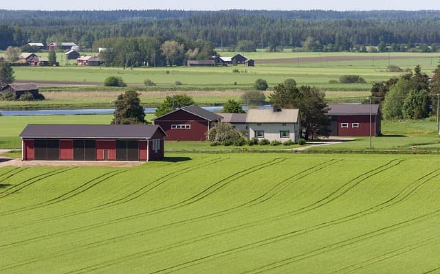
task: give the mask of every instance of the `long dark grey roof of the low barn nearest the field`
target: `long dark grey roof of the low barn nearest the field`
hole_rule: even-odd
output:
[[[160,126],[152,125],[91,125],[91,124],[28,124],[21,138],[72,139],[151,139]]]

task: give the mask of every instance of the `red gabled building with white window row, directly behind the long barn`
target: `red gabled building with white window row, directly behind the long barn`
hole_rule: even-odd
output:
[[[222,117],[199,106],[184,106],[155,117],[154,124],[166,132],[166,141],[203,141],[213,123]]]

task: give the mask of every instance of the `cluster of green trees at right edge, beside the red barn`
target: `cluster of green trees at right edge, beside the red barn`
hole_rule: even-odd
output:
[[[391,78],[373,84],[371,101],[382,104],[385,119],[421,119],[435,113],[440,93],[440,65],[429,80],[417,65],[413,72],[401,78]]]

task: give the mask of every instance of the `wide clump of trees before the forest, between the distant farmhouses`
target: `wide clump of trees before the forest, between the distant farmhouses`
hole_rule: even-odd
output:
[[[211,43],[175,37],[104,38],[94,47],[104,48],[100,58],[107,66],[140,67],[149,65],[186,65],[186,60],[208,60],[214,55]]]

